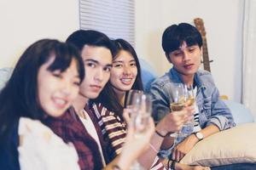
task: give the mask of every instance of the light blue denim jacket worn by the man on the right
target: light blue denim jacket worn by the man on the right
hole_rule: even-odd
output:
[[[216,125],[220,131],[234,127],[233,116],[230,109],[219,99],[212,75],[208,71],[197,71],[194,77],[197,86],[196,104],[199,108],[199,123],[201,128]],[[155,122],[170,113],[172,102],[171,87],[174,82],[183,82],[179,73],[172,68],[163,77],[156,79],[150,88],[153,95],[153,116]]]

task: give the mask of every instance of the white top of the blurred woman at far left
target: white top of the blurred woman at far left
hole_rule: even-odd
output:
[[[19,123],[21,170],[79,170],[73,144],[66,144],[42,122],[21,117]]]

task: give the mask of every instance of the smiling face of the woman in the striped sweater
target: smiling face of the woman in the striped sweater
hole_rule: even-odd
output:
[[[117,94],[129,91],[137,77],[136,61],[131,53],[120,50],[113,59],[110,82]]]

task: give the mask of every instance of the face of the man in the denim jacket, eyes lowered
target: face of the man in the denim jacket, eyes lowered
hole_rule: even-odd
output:
[[[182,46],[168,54],[168,59],[174,68],[184,76],[194,75],[201,65],[201,48],[198,45]]]

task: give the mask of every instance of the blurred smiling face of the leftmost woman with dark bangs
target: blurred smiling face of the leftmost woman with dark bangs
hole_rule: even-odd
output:
[[[38,99],[49,116],[61,116],[79,94],[77,61],[72,60],[66,71],[49,71],[55,56],[49,58],[38,71]]]

